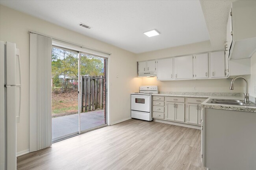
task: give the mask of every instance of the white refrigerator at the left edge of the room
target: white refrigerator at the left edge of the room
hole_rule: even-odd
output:
[[[17,169],[20,118],[20,55],[16,44],[0,41],[0,169]]]

